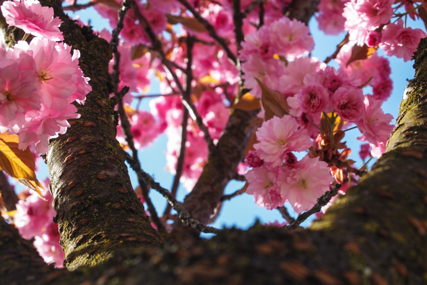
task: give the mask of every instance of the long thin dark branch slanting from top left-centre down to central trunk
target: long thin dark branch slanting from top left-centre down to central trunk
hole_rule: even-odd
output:
[[[134,6],[134,13],[135,13],[135,16],[137,17],[137,19],[140,21],[140,24],[144,28],[144,30],[147,33],[148,37],[150,38],[154,50],[156,50],[159,53],[160,58],[162,60],[162,63],[166,67],[166,71],[169,72],[169,74],[172,76],[173,80],[175,81],[175,84],[176,84],[179,92],[181,93],[182,103],[187,108],[188,113],[191,116],[191,119],[193,119],[197,123],[197,126],[203,132],[203,134],[204,134],[204,140],[207,143],[208,149],[212,150],[213,148],[215,148],[215,144],[213,143],[213,140],[210,137],[209,130],[203,124],[203,120],[201,119],[201,117],[198,114],[198,112],[197,112],[196,108],[194,107],[194,105],[191,103],[191,100],[189,98],[186,98],[185,90],[182,87],[182,84],[179,81],[178,76],[176,75],[175,72],[173,72],[173,70],[172,70],[172,68],[171,68],[171,66],[169,64],[169,61],[165,60],[166,56],[165,56],[165,54],[163,52],[162,43],[159,41],[159,39],[157,39],[156,35],[153,32],[153,29],[151,29],[150,24],[147,21],[147,19],[145,19],[144,15],[142,15],[142,13],[139,11],[139,9],[138,9],[137,6]]]

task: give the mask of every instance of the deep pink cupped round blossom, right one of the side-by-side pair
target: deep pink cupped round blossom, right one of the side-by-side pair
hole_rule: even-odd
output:
[[[340,87],[335,91],[332,105],[340,117],[348,122],[356,122],[365,109],[363,92],[355,87]]]

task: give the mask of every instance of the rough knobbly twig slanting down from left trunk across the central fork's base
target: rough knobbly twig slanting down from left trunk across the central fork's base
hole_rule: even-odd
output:
[[[199,221],[191,218],[191,215],[188,213],[188,211],[185,210],[185,208],[182,206],[181,203],[179,203],[178,201],[176,201],[174,197],[172,197],[172,195],[167,189],[160,186],[160,184],[154,181],[153,177],[151,177],[144,170],[142,170],[141,168],[138,168],[138,164],[134,161],[134,159],[131,157],[129,153],[125,152],[125,156],[126,156],[126,161],[128,161],[132,169],[134,169],[134,171],[137,173],[138,177],[141,178],[145,183],[150,185],[151,188],[159,192],[164,198],[166,198],[167,202],[172,206],[173,209],[175,209],[175,211],[178,213],[179,219],[185,225],[203,233],[218,234],[222,232],[222,230],[220,229],[203,225]]]

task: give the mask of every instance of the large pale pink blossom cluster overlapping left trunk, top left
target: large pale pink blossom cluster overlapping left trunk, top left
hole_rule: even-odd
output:
[[[78,66],[80,53],[64,43],[53,9],[37,0],[7,1],[2,7],[9,26],[34,38],[0,49],[0,132],[19,135],[19,148],[34,145],[45,154],[51,137],[66,132],[68,119],[91,90]]]

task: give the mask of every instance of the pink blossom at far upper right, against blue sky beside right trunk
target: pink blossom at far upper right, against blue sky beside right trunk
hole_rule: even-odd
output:
[[[408,61],[416,51],[419,40],[425,37],[426,35],[421,29],[404,28],[403,20],[399,19],[397,25],[385,26],[380,48],[385,50],[386,55],[395,55]]]

